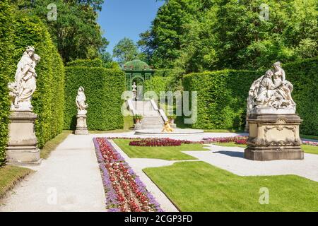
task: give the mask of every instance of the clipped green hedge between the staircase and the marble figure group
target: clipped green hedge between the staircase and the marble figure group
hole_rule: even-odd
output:
[[[259,76],[255,71],[230,70],[184,76],[184,90],[198,92],[198,117],[189,126],[197,129],[244,128],[249,87]]]

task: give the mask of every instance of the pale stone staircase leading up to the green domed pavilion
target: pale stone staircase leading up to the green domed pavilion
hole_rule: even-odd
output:
[[[142,129],[163,129],[165,123],[163,116],[160,114],[158,107],[151,101],[132,101],[132,107],[134,108],[134,114],[141,114],[143,119],[141,120]]]

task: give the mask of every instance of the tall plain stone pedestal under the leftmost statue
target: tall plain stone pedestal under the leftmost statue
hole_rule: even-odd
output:
[[[6,148],[6,161],[13,165],[40,164],[40,150],[35,136],[35,119],[31,111],[14,111],[9,117],[9,140]]]

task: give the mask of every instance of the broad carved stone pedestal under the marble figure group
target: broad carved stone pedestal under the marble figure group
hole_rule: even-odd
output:
[[[249,160],[302,160],[298,114],[252,114],[245,158]]]

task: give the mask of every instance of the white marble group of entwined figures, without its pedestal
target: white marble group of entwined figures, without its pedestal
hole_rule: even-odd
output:
[[[296,104],[291,97],[293,85],[285,80],[285,71],[281,67],[281,62],[273,64],[273,68],[252,83],[247,97],[247,115],[295,114]]]

